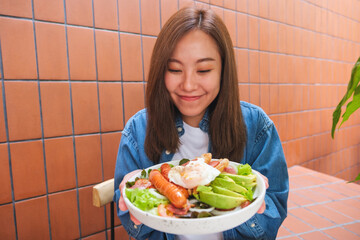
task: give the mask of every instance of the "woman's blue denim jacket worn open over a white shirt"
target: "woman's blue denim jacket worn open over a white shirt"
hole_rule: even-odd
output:
[[[258,106],[241,102],[241,110],[247,128],[247,142],[241,163],[251,167],[269,180],[266,191],[266,210],[255,214],[247,222],[223,232],[224,239],[275,239],[281,223],[287,215],[289,191],[288,172],[279,135],[274,123]],[[179,136],[184,134],[183,122],[177,119],[176,128]],[[136,169],[145,169],[153,164],[146,156],[144,142],[146,135],[146,109],[136,113],[126,124],[121,137],[115,168],[114,201],[117,214],[128,234],[135,239],[174,239],[175,236],[159,232],[144,224],[134,225],[128,211],[118,207],[120,199],[119,185],[123,177]],[[200,122],[200,129],[208,132],[207,113]],[[211,143],[209,143],[209,150]],[[164,149],[160,163],[171,161],[172,153]]]

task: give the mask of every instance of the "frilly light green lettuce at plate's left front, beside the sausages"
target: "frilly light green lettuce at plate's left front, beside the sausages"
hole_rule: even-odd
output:
[[[127,188],[125,194],[132,204],[143,211],[149,211],[161,203],[168,203],[168,200],[159,199],[152,195],[149,189]]]

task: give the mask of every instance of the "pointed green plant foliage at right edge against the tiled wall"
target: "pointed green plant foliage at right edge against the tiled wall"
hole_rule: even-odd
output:
[[[360,98],[358,97],[359,94],[359,90],[356,90],[358,88],[358,84],[360,82],[360,57],[357,60],[357,62],[355,63],[352,71],[351,71],[351,78],[347,87],[347,91],[344,95],[344,97],[341,99],[341,101],[339,102],[339,104],[336,106],[336,109],[333,112],[333,124],[332,124],[332,128],[331,128],[331,137],[334,138],[334,134],[335,134],[335,129],[336,129],[336,125],[338,124],[339,120],[340,120],[340,115],[341,115],[341,108],[342,106],[347,102],[347,100],[351,97],[351,95],[354,93],[354,97],[353,97],[353,101],[350,102],[347,105],[346,111],[344,113],[343,120],[340,124],[340,126],[347,120],[349,119],[350,115],[359,107],[359,101]],[[356,90],[356,91],[355,91]],[[357,94],[356,94],[357,93]],[[356,95],[356,96],[355,96]],[[339,126],[339,128],[340,128]]]

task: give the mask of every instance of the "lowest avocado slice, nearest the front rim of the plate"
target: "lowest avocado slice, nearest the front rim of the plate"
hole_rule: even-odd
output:
[[[226,196],[211,191],[198,192],[198,200],[219,209],[231,209],[246,201],[244,197]]]

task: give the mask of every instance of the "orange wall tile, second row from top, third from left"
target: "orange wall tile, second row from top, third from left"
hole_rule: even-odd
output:
[[[70,78],[95,80],[94,32],[91,29],[68,27]]]

